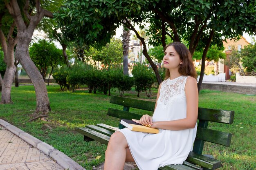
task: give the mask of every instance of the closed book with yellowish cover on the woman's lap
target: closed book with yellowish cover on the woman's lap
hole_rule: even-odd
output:
[[[137,132],[147,132],[147,133],[159,133],[159,129],[157,128],[150,128],[143,126],[141,124],[138,124],[132,120],[128,119],[121,119],[120,124],[124,125],[126,128],[137,131]]]

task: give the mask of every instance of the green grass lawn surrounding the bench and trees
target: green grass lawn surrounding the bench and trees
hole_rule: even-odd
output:
[[[59,92],[59,86],[47,86],[52,111],[46,122],[27,122],[36,108],[36,97],[33,86],[13,87],[11,98],[14,104],[0,105],[0,118],[30,133],[34,137],[52,145],[78,162],[87,170],[92,170],[104,161],[106,146],[96,141],[84,142],[82,135],[74,131],[74,127],[87,124],[105,123],[118,126],[119,119],[106,115],[108,107],[119,108],[109,103],[110,96],[101,93],[88,94],[81,89],[74,93]],[[157,89],[153,89],[151,99],[156,98]],[[112,91],[112,95],[118,95]],[[125,93],[127,97],[137,98],[133,91]],[[148,99],[145,93],[141,99]],[[216,130],[233,134],[231,147],[206,143],[203,154],[213,155],[222,160],[220,170],[254,170],[256,168],[256,96],[236,93],[202,90],[199,107],[234,110],[235,119],[232,125],[209,124]],[[131,110],[145,114],[139,110]],[[98,156],[101,156],[100,158]],[[96,159],[98,157],[99,159]]]

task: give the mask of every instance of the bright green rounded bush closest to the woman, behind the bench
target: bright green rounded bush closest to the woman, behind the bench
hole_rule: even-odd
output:
[[[152,69],[142,64],[133,66],[132,75],[134,77],[135,91],[138,92],[137,96],[141,91],[145,91],[147,97],[151,96],[151,88],[156,81],[155,74]]]

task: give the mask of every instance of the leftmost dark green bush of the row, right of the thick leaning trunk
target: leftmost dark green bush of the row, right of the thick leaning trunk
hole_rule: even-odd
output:
[[[63,91],[65,87],[67,89],[70,88],[70,86],[67,84],[67,75],[69,74],[69,71],[70,68],[67,66],[62,66],[52,74],[52,77],[55,79],[56,83],[61,86],[61,91]]]

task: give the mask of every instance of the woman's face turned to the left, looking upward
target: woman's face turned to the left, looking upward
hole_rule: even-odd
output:
[[[164,51],[164,68],[174,69],[182,64],[180,55],[175,51],[173,46],[168,46]]]

